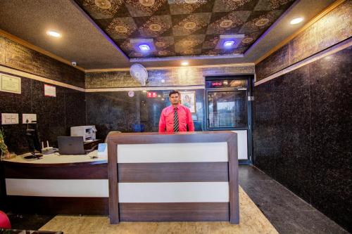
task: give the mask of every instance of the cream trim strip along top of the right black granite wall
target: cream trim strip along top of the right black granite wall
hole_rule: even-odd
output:
[[[335,44],[334,46],[325,49],[324,51],[320,51],[319,53],[315,53],[313,56],[310,56],[304,60],[301,60],[300,62],[295,63],[294,65],[286,67],[283,70],[280,70],[279,72],[275,72],[274,74],[271,74],[269,77],[265,77],[264,79],[260,79],[260,81],[254,83],[254,86],[258,86],[259,84],[263,84],[265,82],[270,81],[271,79],[275,79],[279,76],[282,76],[283,74],[287,74],[293,70],[296,70],[299,67],[303,67],[304,65],[308,65],[309,63],[313,63],[316,60],[319,60],[320,58],[325,58],[326,56],[330,56],[333,53],[337,53],[337,52],[343,50],[344,48],[348,48],[349,46],[352,46],[352,38],[351,37],[349,39],[346,39],[344,41],[339,42],[339,44]]]

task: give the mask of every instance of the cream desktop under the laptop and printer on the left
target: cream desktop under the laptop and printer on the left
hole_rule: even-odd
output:
[[[53,166],[53,164],[58,164],[58,166],[63,164],[103,164],[108,162],[108,155],[99,156],[98,158],[92,158],[97,155],[97,150],[89,152],[87,155],[59,155],[58,153],[43,155],[39,160],[37,159],[25,159],[24,155],[18,155],[11,160],[3,160],[6,164],[33,164],[33,166],[43,166],[44,164]]]

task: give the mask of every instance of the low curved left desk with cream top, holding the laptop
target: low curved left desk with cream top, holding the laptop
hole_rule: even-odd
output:
[[[108,214],[107,157],[44,155],[4,160],[6,204],[13,212]]]

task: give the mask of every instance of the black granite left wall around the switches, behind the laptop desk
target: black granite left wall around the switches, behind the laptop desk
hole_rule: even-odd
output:
[[[20,124],[1,125],[11,151],[28,151],[23,113],[37,114],[41,141],[49,141],[55,146],[57,136],[70,136],[70,126],[85,125],[84,92],[56,86],[56,98],[46,97],[43,82],[25,77],[21,77],[21,89],[21,94],[0,91],[0,113],[19,113]]]

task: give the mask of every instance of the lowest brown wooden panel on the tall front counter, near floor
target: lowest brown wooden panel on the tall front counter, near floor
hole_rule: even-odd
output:
[[[120,203],[120,221],[230,221],[228,202]]]

